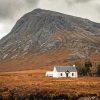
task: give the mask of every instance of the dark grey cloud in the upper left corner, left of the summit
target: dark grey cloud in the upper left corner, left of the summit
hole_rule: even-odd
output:
[[[0,19],[13,19],[23,9],[37,5],[39,0],[0,0]]]

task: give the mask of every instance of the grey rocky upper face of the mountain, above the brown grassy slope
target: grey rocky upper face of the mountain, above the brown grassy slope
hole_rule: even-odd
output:
[[[61,48],[73,49],[71,56],[74,58],[100,53],[100,24],[35,9],[20,18],[11,32],[0,40],[0,60]]]

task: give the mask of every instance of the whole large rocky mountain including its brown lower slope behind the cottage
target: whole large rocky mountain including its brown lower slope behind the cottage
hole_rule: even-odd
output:
[[[100,54],[100,24],[35,9],[0,40],[0,69],[32,69]],[[15,67],[16,66],[16,67]]]

